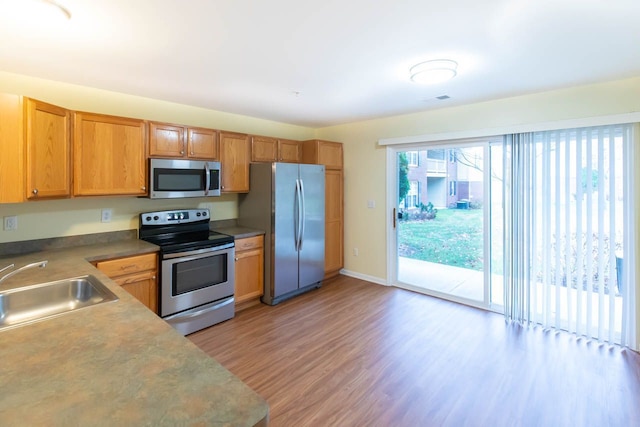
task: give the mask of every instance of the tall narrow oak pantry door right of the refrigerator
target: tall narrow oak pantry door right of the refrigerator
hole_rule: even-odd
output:
[[[325,277],[344,266],[343,187],[341,170],[325,170]]]

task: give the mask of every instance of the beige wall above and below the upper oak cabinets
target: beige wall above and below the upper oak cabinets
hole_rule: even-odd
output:
[[[313,129],[301,126],[4,72],[0,72],[0,92],[29,96],[72,110],[257,135],[304,140],[313,138],[315,134]],[[18,215],[18,230],[4,231],[0,226],[0,243],[136,229],[140,212],[191,207],[208,207],[213,219],[236,218],[237,196],[184,200],[92,197],[0,204],[0,218]],[[113,209],[110,223],[100,222],[103,208]]]

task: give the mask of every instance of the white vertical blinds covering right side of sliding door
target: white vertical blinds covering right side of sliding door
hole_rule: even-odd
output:
[[[506,135],[505,316],[635,346],[630,125]]]

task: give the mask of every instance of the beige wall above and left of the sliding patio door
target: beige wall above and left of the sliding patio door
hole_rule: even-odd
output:
[[[412,135],[536,127],[539,123],[640,111],[640,78],[581,86],[318,130],[344,143],[345,269],[386,281],[386,148],[378,140]],[[376,208],[368,209],[367,200]],[[359,255],[353,255],[358,248]]]

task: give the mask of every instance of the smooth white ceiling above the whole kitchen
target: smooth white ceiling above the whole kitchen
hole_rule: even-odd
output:
[[[58,1],[0,0],[1,71],[310,127],[640,76],[637,0]]]

